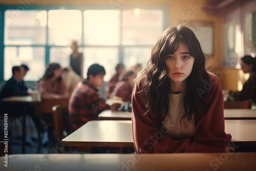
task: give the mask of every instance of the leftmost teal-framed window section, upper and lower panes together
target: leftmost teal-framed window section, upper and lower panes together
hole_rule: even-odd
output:
[[[6,10],[4,36],[4,79],[8,80],[12,66],[29,66],[25,80],[38,80],[45,70],[46,45],[45,10]]]

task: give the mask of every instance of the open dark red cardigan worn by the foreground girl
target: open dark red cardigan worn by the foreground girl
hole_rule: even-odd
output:
[[[225,133],[223,113],[223,93],[219,79],[209,73],[211,89],[207,89],[209,100],[204,103],[205,114],[197,125],[193,139],[173,140],[163,130],[155,115],[145,113],[145,103],[137,93],[132,95],[132,129],[135,152],[138,153],[188,153],[225,152],[231,135]]]

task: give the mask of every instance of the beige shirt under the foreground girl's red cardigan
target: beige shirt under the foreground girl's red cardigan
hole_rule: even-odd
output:
[[[169,93],[169,110],[163,121],[164,129],[167,134],[174,140],[181,140],[185,138],[192,138],[195,133],[195,116],[192,115],[190,123],[185,117],[184,121],[181,117],[185,114],[184,109],[184,95],[185,92],[180,94]]]

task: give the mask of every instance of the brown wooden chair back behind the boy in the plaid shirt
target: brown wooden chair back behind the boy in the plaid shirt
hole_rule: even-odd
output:
[[[52,107],[53,119],[54,119],[54,127],[55,127],[55,135],[57,139],[62,139],[64,137],[64,124],[63,124],[63,112],[67,112],[67,107],[62,107],[60,104]]]

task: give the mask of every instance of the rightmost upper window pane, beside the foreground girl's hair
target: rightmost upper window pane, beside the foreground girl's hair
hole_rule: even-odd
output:
[[[161,10],[123,10],[122,19],[123,45],[154,45],[163,30]]]

